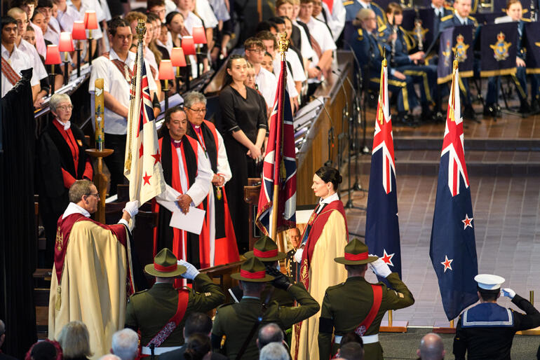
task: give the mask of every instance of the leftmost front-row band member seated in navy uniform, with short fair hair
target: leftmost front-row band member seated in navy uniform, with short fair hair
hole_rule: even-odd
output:
[[[461,0],[465,1],[465,0]],[[386,48],[386,57],[389,57],[391,49],[377,41],[375,13],[372,10],[362,9],[356,15],[356,31],[346,41],[356,53],[360,64],[365,64],[362,72],[369,75],[370,88],[379,90],[379,74],[381,74],[381,62],[383,59],[383,46]],[[398,122],[411,124],[411,118],[407,114],[417,104],[416,93],[412,78],[405,76],[398,69],[389,67],[388,88],[391,92],[397,92]]]

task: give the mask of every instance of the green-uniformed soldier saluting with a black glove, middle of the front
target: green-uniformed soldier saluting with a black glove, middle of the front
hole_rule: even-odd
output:
[[[240,281],[242,300],[218,307],[212,327],[212,347],[224,348],[224,354],[231,360],[259,359],[255,334],[264,324],[274,322],[285,330],[319,310],[318,303],[304,285],[291,284],[281,272],[276,276],[267,275],[263,263],[255,256],[248,258],[241,265],[240,272],[231,277]],[[299,306],[279,306],[276,301],[262,298],[266,282],[271,282],[276,289],[286,290]]]

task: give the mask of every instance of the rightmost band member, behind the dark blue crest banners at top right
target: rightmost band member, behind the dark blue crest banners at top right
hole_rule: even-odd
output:
[[[525,22],[530,22],[529,19],[522,18],[522,6],[520,0],[508,0],[506,4],[506,16],[495,19],[495,24],[501,24],[504,22],[517,22],[518,23],[518,49],[515,57],[515,74],[510,75],[514,84],[518,97],[520,98],[520,113],[530,113],[531,107],[527,102],[527,74],[525,71],[525,48],[522,44],[523,28]],[[535,75],[533,75],[535,76]],[[499,104],[499,76],[492,76],[487,82],[487,95],[485,97],[485,116],[500,116]]]

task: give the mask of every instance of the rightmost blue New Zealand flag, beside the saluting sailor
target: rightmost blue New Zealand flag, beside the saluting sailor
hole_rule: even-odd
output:
[[[478,301],[474,281],[478,275],[478,259],[471,189],[465,165],[457,66],[457,60],[454,60],[429,249],[448,320],[455,319],[462,310]]]

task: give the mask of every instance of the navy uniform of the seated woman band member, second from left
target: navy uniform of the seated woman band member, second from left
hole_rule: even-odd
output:
[[[392,32],[389,26],[379,27],[379,39],[384,43],[389,43]],[[414,38],[407,34],[403,27],[398,27],[396,34],[398,37],[394,46],[393,61],[391,53],[387,53],[386,57],[391,59],[391,64],[396,67],[396,70],[412,77],[412,81],[420,85],[420,102],[425,109],[428,104],[433,104],[433,99],[437,98],[437,67],[414,64],[409,58],[409,51],[415,46]]]

